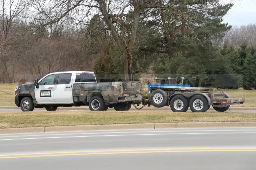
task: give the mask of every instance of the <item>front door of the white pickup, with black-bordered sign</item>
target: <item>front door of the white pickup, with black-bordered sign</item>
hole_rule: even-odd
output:
[[[54,103],[53,87],[56,74],[45,77],[38,83],[39,88],[35,87],[35,98],[38,104]]]

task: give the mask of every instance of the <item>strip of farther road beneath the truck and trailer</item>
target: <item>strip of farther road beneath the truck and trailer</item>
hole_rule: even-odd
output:
[[[38,109],[38,110],[34,110],[34,111],[46,111],[45,109]],[[83,111],[83,110],[75,110],[75,109],[66,109],[63,111]],[[114,111],[114,109],[113,109]],[[136,110],[134,110],[136,111]],[[170,108],[167,108],[167,110],[151,110],[151,109],[141,109],[139,111],[142,112],[172,112],[172,110]],[[0,112],[22,112],[21,109],[1,109],[0,108]],[[191,111],[187,111],[187,112],[191,112]],[[216,112],[216,111],[212,111],[212,110],[208,110],[207,112]],[[232,110],[232,111],[226,111],[226,112],[230,112],[230,113],[256,113],[256,110]]]

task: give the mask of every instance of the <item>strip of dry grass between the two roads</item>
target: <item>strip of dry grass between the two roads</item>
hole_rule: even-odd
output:
[[[29,113],[0,113],[0,128],[166,123],[166,122],[231,122],[256,121],[254,113],[166,113],[166,112],[112,112],[112,111],[34,111]]]

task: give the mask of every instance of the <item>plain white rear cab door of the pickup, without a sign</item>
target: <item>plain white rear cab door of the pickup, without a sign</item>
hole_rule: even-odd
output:
[[[72,102],[72,74],[58,74],[54,85],[53,96],[57,103]]]

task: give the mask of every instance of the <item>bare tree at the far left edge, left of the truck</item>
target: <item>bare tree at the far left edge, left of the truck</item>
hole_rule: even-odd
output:
[[[24,14],[28,11],[29,0],[1,0],[0,1],[0,31],[2,38],[2,51],[4,55],[0,56],[1,69],[8,78],[8,82],[15,81],[16,64],[19,52],[14,48],[17,40],[25,34],[22,26],[24,23]],[[28,13],[26,13],[28,15]]]

